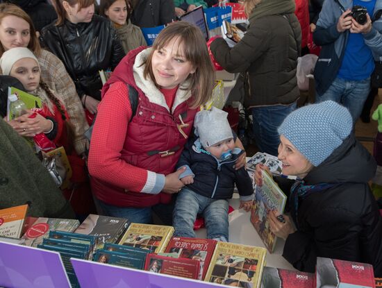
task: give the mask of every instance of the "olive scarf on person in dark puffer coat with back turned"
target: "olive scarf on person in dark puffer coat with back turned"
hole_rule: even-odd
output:
[[[258,17],[294,13],[296,4],[293,0],[263,0],[256,5],[249,15],[249,22]]]

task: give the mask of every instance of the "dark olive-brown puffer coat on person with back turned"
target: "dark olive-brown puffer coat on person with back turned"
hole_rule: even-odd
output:
[[[296,71],[301,27],[294,3],[289,10],[282,4],[279,10],[269,8],[263,13],[261,5],[249,16],[247,33],[238,44],[230,48],[224,39],[217,38],[210,50],[227,71],[244,72],[246,107],[288,105],[299,97]]]

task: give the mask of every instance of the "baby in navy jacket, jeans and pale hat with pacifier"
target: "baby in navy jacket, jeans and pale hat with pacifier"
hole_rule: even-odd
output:
[[[176,198],[173,226],[178,237],[195,237],[194,221],[203,214],[207,238],[228,242],[228,199],[234,184],[240,194],[240,207],[249,211],[254,188],[244,167],[236,170],[235,161],[243,151],[235,147],[227,113],[213,107],[195,116],[195,135],[185,145],[177,169],[186,167],[180,180],[185,185]]]

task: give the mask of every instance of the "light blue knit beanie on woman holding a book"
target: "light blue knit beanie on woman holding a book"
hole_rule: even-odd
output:
[[[290,113],[279,127],[314,166],[321,164],[342,144],[353,129],[347,108],[334,101],[307,105]]]

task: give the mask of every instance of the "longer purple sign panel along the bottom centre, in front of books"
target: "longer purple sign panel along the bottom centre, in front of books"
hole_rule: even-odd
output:
[[[81,288],[213,288],[226,287],[148,271],[71,259]]]

